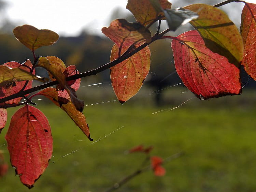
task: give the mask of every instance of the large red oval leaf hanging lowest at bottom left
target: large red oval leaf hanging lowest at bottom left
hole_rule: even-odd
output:
[[[52,157],[48,120],[39,109],[26,105],[12,116],[5,139],[16,174],[25,186],[32,188]]]

